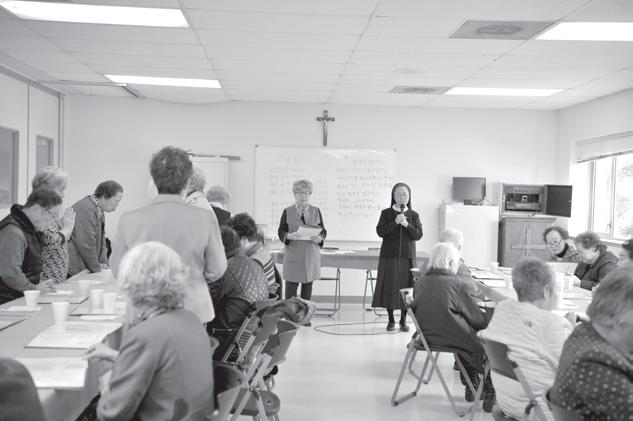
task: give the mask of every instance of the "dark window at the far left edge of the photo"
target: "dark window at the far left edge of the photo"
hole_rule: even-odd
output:
[[[18,201],[18,132],[0,127],[0,209]]]

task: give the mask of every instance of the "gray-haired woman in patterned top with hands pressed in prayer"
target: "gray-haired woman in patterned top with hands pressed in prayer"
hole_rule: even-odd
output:
[[[64,198],[68,174],[59,167],[44,167],[35,174],[31,186],[33,190],[44,188],[54,191]],[[42,281],[60,283],[68,276],[68,242],[75,226],[75,211],[67,208],[61,218],[42,231]]]

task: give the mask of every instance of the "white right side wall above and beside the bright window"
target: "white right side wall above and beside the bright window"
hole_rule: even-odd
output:
[[[589,228],[590,199],[587,194],[590,180],[576,164],[576,142],[633,130],[633,89],[566,108],[557,114],[557,155],[564,163],[558,167],[557,178],[574,185],[572,218],[569,223],[573,235]]]

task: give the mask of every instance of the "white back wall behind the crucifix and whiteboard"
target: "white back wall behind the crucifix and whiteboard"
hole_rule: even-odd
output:
[[[106,179],[119,181],[125,189],[119,210],[107,216],[109,236],[122,212],[147,202],[148,163],[162,146],[239,155],[240,161],[230,163],[230,210],[252,214],[254,146],[321,145],[315,118],[322,105],[183,105],[89,96],[69,97],[69,103],[69,199],[78,200]],[[413,208],[425,229],[418,244],[421,250],[430,250],[437,239],[438,207],[450,198],[453,176],[485,176],[489,184],[559,182],[554,112],[340,105],[327,109],[336,118],[329,147],[398,150],[398,178],[411,186]],[[289,192],[288,202],[292,200]],[[354,244],[339,246],[349,245]],[[355,288],[362,289],[362,284]]]

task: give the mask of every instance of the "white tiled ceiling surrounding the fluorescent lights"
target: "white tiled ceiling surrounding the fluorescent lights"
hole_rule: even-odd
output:
[[[219,79],[222,89],[131,85],[147,98],[200,103],[561,109],[633,87],[633,42],[449,38],[466,20],[633,22],[633,0],[72,2],[180,8],[191,28],[28,21],[0,9],[0,64],[68,94],[131,96],[102,86],[104,74]],[[71,82],[51,82],[61,80]],[[396,85],[564,90],[389,93]]]

